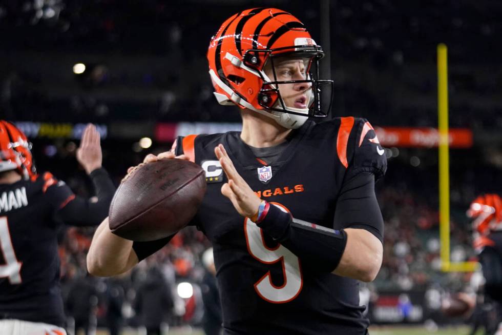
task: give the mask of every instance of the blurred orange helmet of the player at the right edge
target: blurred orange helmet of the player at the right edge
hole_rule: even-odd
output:
[[[498,194],[479,195],[467,210],[467,216],[474,219],[473,229],[481,235],[502,230],[502,200]]]

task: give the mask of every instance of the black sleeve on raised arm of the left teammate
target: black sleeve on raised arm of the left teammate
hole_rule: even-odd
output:
[[[90,202],[80,196],[75,196],[57,212],[60,219],[74,226],[95,226],[100,224],[107,216],[112,202],[115,186],[108,172],[99,168],[89,175],[94,185],[97,202]]]

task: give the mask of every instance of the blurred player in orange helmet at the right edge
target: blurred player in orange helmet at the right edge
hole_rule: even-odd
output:
[[[490,307],[487,315],[487,333],[502,335],[502,200],[498,194],[478,196],[470,205],[467,216],[473,219],[474,249],[482,266],[484,304]],[[489,305],[489,306],[488,306]],[[495,320],[492,320],[495,319]]]

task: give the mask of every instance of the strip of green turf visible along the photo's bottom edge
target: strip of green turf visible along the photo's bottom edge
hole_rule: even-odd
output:
[[[481,335],[483,332],[478,331],[476,335]],[[142,335],[142,332],[135,330],[125,330],[121,335]],[[468,327],[448,327],[440,328],[437,331],[428,331],[422,327],[372,327],[370,328],[370,335],[467,335],[469,334]],[[107,331],[98,330],[96,335],[108,335]],[[163,335],[204,335],[200,329],[170,329],[168,333]]]

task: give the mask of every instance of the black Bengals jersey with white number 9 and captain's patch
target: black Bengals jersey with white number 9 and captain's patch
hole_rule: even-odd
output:
[[[175,149],[205,171],[207,193],[192,224],[213,243],[225,334],[365,334],[369,322],[359,305],[357,280],[302,262],[239,215],[221,194],[226,176],[214,153],[219,144],[260,198],[295,219],[336,230],[366,229],[382,241],[374,189],[350,202],[345,198],[361,175],[373,174],[378,180],[386,171],[384,149],[373,127],[353,117],[307,122],[291,132],[287,146],[270,164],[255,157],[238,132],[179,137]],[[337,209],[338,199],[344,203]],[[168,240],[135,242],[133,247],[142,259]]]

